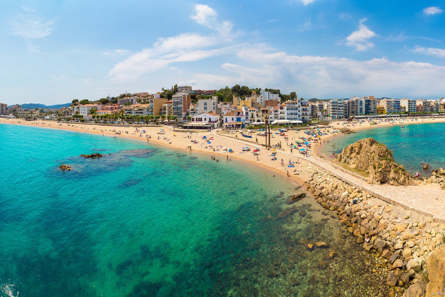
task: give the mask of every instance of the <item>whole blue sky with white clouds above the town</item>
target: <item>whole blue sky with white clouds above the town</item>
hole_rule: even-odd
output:
[[[445,96],[445,1],[2,0],[0,102],[235,84]]]

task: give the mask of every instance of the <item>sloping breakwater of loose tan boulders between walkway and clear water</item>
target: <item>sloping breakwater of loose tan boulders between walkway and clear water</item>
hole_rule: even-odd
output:
[[[423,292],[425,261],[436,247],[444,244],[445,224],[391,205],[321,169],[312,166],[308,169],[311,178],[305,186],[324,208],[337,214],[346,229],[356,236],[357,244],[379,258],[373,271],[393,288],[392,296],[396,293],[400,296],[414,284],[406,290],[405,297]]]

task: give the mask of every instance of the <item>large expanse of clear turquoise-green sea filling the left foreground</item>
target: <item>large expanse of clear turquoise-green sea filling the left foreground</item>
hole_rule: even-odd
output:
[[[79,156],[91,152],[105,155]],[[388,296],[373,256],[313,198],[278,218],[302,190],[267,170],[5,124],[0,159],[2,297]],[[316,241],[329,248],[306,249]]]

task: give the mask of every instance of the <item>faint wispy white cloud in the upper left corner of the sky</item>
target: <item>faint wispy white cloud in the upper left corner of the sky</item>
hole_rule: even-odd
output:
[[[12,22],[12,34],[26,39],[44,38],[54,29],[54,20],[43,21],[36,11],[22,6],[27,13],[18,15]]]

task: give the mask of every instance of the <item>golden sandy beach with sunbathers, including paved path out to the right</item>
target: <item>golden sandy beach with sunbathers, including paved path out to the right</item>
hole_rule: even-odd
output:
[[[1,119],[0,123],[37,126],[53,129],[64,129],[77,131],[81,133],[94,133],[103,135],[104,137],[126,137],[150,144],[162,145],[170,148],[179,148],[188,150],[190,153],[207,153],[215,156],[215,161],[240,160],[249,162],[252,165],[261,166],[270,170],[271,177],[281,175],[294,182],[297,185],[311,178],[309,171],[317,166],[330,174],[347,181],[351,185],[360,187],[376,195],[383,200],[404,206],[407,209],[419,211],[429,214],[433,218],[445,221],[445,191],[440,190],[438,185],[419,185],[419,186],[390,186],[390,185],[371,185],[363,179],[342,170],[335,166],[325,158],[317,156],[322,145],[332,137],[338,136],[335,132],[340,128],[358,129],[378,129],[383,126],[391,125],[408,125],[420,123],[436,123],[445,122],[445,118],[431,119],[403,119],[394,122],[378,121],[376,125],[371,125],[364,121],[361,123],[345,123],[344,121],[331,122],[332,128],[320,128],[323,135],[317,137],[317,141],[310,141],[309,146],[303,144],[302,147],[294,148],[296,141],[302,142],[303,137],[308,138],[305,130],[296,131],[289,130],[284,136],[275,134],[273,131],[271,144],[279,145],[275,151],[267,150],[261,144],[265,143],[265,137],[256,136],[252,132],[252,138],[244,138],[239,132],[235,133],[217,133],[217,131],[202,132],[184,132],[173,129],[171,126],[143,126],[143,127],[123,127],[120,125],[104,126],[99,124],[86,123],[58,123],[55,121],[24,121],[23,119]],[[136,130],[137,129],[137,130]],[[145,132],[142,132],[145,131]],[[278,133],[278,131],[276,131]],[[206,140],[203,138],[207,138]],[[258,143],[256,143],[256,139]],[[210,144],[208,143],[210,142]],[[253,142],[253,143],[252,143]],[[250,151],[242,151],[243,147],[249,147]],[[232,149],[233,152],[227,152],[223,148]],[[253,150],[260,148],[258,154],[254,154]],[[292,148],[292,151],[291,151]],[[299,153],[301,148],[307,148],[308,155]],[[276,153],[272,156],[272,153]],[[283,164],[281,163],[283,160]],[[293,162],[294,167],[288,167],[289,162]],[[434,197],[434,198],[433,198]]]

